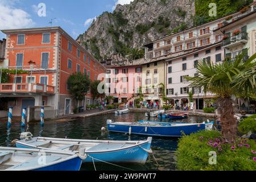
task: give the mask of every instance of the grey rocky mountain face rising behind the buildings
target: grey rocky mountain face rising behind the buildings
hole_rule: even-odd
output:
[[[77,41],[97,59],[126,55],[152,40],[193,25],[195,0],[134,0],[104,12]]]

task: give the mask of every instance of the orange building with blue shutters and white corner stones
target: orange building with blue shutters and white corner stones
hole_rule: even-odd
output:
[[[49,112],[70,114],[75,107],[94,104],[91,94],[77,103],[69,93],[72,73],[97,80],[105,67],[61,27],[2,30],[6,34],[5,67],[13,69],[9,82],[0,82],[0,97],[10,98],[13,115],[28,106],[49,106]],[[23,72],[20,72],[22,69]],[[18,71],[16,71],[18,70]]]

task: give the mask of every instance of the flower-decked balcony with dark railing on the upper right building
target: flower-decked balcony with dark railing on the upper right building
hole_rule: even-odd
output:
[[[230,36],[230,37],[222,40],[222,44],[223,44],[224,48],[236,47],[240,44],[246,44],[247,42],[248,42],[247,32],[241,32],[238,35]]]

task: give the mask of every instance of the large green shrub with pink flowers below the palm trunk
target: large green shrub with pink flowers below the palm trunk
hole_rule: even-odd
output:
[[[218,131],[199,131],[179,139],[177,168],[182,171],[255,171],[254,140],[238,138],[225,143]],[[217,164],[209,164],[209,152],[217,153]]]

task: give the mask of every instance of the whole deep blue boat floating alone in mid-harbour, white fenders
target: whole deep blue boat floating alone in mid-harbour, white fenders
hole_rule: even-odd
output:
[[[167,123],[167,122],[114,122],[107,121],[108,130],[118,133],[156,137],[181,137],[200,130],[212,129],[213,123]]]

